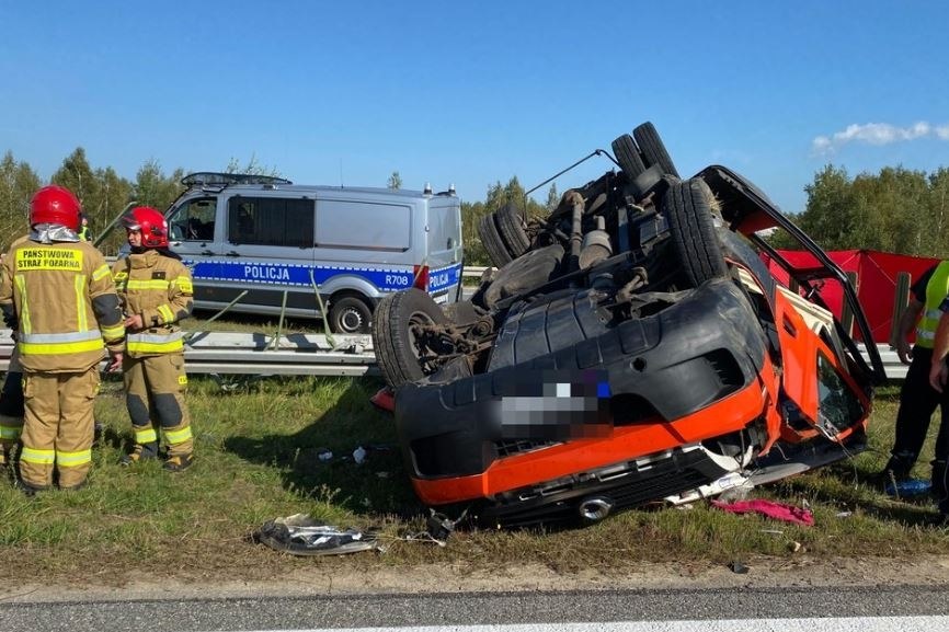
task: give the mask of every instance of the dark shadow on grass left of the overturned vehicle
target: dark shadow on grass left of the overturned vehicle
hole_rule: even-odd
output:
[[[424,512],[402,464],[392,415],[369,398],[376,380],[352,380],[320,417],[293,434],[230,437],[225,449],[276,468],[284,487],[357,515],[411,518]],[[354,452],[365,450],[362,462]]]

